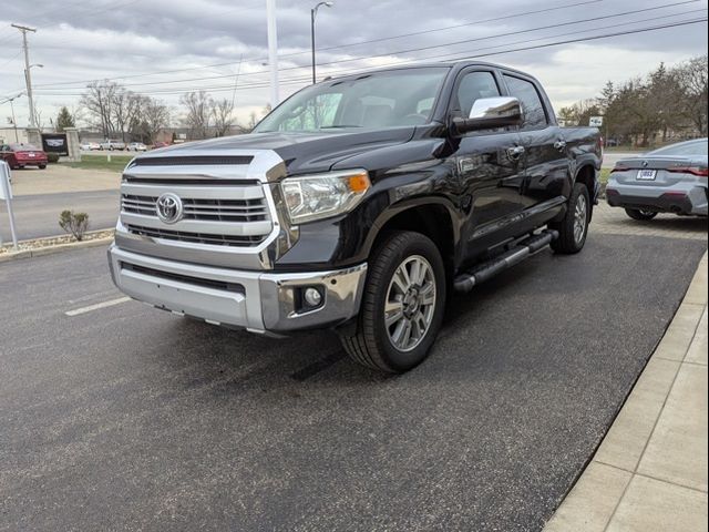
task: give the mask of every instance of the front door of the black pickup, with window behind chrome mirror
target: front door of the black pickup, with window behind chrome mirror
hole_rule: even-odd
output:
[[[502,95],[500,73],[471,68],[460,72],[449,111],[451,117],[467,117],[475,100]],[[464,134],[453,153],[460,178],[461,206],[469,213],[463,237],[464,255],[473,258],[504,239],[523,208],[520,187],[524,157],[516,127]]]

